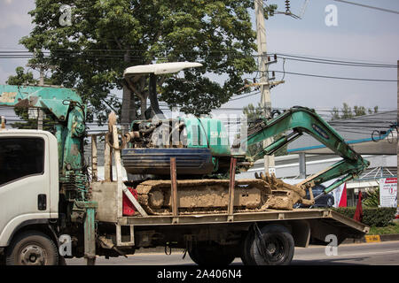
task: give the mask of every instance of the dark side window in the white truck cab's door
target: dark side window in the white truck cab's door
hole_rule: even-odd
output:
[[[0,186],[43,172],[42,138],[0,138]]]

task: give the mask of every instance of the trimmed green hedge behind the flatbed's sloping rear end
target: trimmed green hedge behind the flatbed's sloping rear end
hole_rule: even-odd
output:
[[[353,218],[355,216],[356,207],[340,207],[333,209],[340,214]],[[387,207],[379,207],[379,208],[363,208],[363,220],[362,222],[366,226],[376,226],[376,227],[385,227],[388,226],[391,221],[395,218],[396,208],[387,208]]]

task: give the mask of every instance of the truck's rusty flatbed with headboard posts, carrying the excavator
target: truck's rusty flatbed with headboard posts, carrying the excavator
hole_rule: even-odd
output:
[[[96,139],[97,136],[92,136],[91,200],[98,204],[96,221],[98,234],[103,235],[101,242],[108,243],[102,247],[117,251],[114,256],[132,254],[137,249],[168,247],[187,249],[197,264],[230,264],[236,257],[241,257],[244,264],[289,264],[294,247],[308,247],[310,242],[339,245],[347,238],[358,239],[369,231],[368,226],[329,209],[243,211],[233,210],[228,203],[226,212],[194,214],[179,212],[175,201],[172,214],[148,215],[121,180],[120,150],[107,149],[106,144],[106,155],[113,151],[116,180],[112,180],[111,167],[105,171],[106,180],[95,180]],[[111,166],[107,159],[108,156],[105,165]],[[178,187],[174,190],[171,185],[170,189],[171,198],[177,200]],[[123,215],[123,195],[137,208],[134,216]],[[271,240],[264,243],[263,253],[268,253],[268,249],[273,252],[272,260],[267,262],[254,253],[262,254],[262,239],[269,236]],[[93,251],[93,254],[102,253]]]

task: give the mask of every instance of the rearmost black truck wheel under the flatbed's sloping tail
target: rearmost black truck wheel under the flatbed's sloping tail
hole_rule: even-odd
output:
[[[267,225],[260,228],[265,248],[269,255],[262,256],[262,244],[258,237],[253,237],[249,248],[250,264],[255,265],[287,265],[293,260],[293,235],[285,226]]]

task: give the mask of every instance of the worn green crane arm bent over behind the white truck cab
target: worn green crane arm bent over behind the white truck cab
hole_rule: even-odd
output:
[[[0,106],[50,111],[58,121],[55,135],[59,142],[60,172],[65,175],[67,171],[82,170],[86,110],[73,89],[0,85]]]

